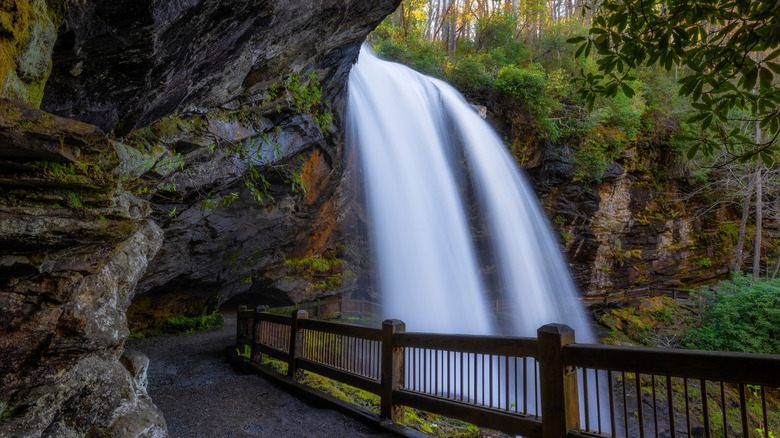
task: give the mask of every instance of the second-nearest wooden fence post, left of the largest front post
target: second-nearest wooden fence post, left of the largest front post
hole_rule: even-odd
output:
[[[393,401],[393,390],[403,385],[404,349],[393,345],[393,335],[406,331],[406,324],[398,319],[382,322],[382,389],[379,416],[396,423],[404,422],[404,407]]]

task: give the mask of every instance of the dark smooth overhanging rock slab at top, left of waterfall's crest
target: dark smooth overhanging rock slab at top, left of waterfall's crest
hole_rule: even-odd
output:
[[[127,133],[311,69],[344,83],[399,0],[71,2],[42,108]]]

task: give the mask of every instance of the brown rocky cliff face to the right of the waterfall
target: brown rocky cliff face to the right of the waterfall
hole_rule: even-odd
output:
[[[695,182],[663,144],[631,145],[593,185],[573,178],[567,146],[535,155],[529,173],[584,295],[688,288],[728,274],[739,218],[690,196]]]

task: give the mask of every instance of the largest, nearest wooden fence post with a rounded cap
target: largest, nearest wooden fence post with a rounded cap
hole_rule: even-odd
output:
[[[536,334],[542,435],[563,438],[580,427],[577,372],[563,363],[563,347],[574,343],[574,330],[565,324],[547,324]]]

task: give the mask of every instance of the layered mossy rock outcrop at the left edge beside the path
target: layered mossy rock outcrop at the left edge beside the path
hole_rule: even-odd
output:
[[[98,128],[8,101],[0,113],[0,436],[164,436],[144,366],[120,361],[162,231]]]

